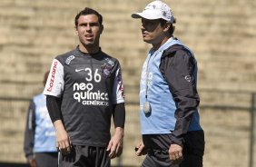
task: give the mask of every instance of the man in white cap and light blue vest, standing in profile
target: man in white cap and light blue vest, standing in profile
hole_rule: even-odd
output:
[[[202,167],[196,59],[173,37],[175,18],[168,5],[153,1],[132,17],[141,18],[143,41],[153,45],[141,76],[143,141],[136,146],[136,155],[147,153],[143,167]]]

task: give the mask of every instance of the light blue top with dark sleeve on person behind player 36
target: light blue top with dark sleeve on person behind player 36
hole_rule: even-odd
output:
[[[54,125],[46,107],[43,93],[35,95],[30,102],[25,127],[25,157],[34,152],[57,152]]]

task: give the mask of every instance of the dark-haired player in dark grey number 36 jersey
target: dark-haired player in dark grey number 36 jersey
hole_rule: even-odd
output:
[[[84,8],[74,19],[78,46],[54,58],[44,94],[60,166],[110,166],[123,150],[123,80],[117,59],[103,53],[103,17]],[[113,115],[115,132],[111,137]]]

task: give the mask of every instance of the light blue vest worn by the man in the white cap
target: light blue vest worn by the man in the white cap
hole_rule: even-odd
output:
[[[157,51],[150,50],[144,64],[140,84],[140,118],[142,134],[171,133],[175,128],[177,103],[174,102],[170,87],[159,69],[162,53],[174,44],[183,45],[179,40],[170,38]],[[188,49],[189,50],[189,49]],[[195,75],[196,75],[195,69]],[[146,98],[147,94],[147,98]],[[152,112],[143,113],[143,103],[151,104]],[[188,131],[201,130],[199,114],[195,109]]]

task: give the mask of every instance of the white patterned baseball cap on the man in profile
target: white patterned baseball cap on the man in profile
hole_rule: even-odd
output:
[[[175,22],[171,8],[168,5],[162,3],[162,1],[153,1],[152,3],[146,5],[143,12],[133,13],[132,17],[145,18],[149,20],[162,18],[163,20],[166,20],[172,24]]]

